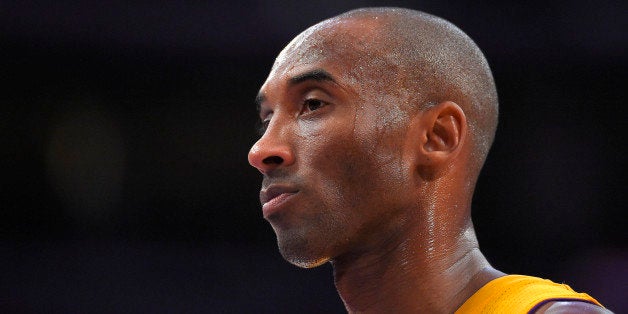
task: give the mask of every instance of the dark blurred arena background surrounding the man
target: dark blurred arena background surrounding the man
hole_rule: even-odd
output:
[[[342,312],[328,265],[279,256],[246,154],[281,48],[376,5],[452,21],[492,66],[493,265],[628,311],[628,8],[549,2],[0,2],[0,311]]]

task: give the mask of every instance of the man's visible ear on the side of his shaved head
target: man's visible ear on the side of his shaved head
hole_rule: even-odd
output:
[[[421,117],[422,136],[419,163],[430,168],[447,166],[463,147],[467,118],[453,101],[444,101],[426,109]]]

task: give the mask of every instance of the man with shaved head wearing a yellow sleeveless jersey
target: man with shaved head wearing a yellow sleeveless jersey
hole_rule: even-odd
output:
[[[497,95],[449,22],[397,8],[323,21],[279,54],[257,102],[264,218],[289,262],[331,262],[349,312],[606,311],[480,252],[471,198]]]

